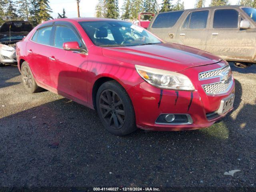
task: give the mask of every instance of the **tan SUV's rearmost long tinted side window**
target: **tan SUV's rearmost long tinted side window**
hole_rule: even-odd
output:
[[[154,20],[152,28],[173,27],[184,11],[160,13]]]

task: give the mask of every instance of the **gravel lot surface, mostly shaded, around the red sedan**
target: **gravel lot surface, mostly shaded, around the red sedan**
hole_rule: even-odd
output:
[[[210,128],[108,133],[94,110],[28,94],[0,68],[0,186],[256,187],[256,65],[232,66],[235,110]],[[229,170],[241,170],[234,177]]]

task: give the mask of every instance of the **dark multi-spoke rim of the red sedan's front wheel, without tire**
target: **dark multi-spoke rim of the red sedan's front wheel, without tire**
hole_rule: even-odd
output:
[[[122,128],[125,122],[124,104],[118,94],[112,90],[104,90],[100,95],[100,115],[108,126],[115,130]]]

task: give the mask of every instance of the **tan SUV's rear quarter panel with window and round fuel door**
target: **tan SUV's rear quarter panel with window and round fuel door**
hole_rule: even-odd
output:
[[[159,13],[150,23],[148,30],[167,42],[176,42],[178,21],[184,11]]]

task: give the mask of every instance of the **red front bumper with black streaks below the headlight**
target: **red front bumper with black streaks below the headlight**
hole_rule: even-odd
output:
[[[235,82],[228,90],[221,94],[206,94],[202,85],[220,81],[219,78],[199,81],[198,73],[223,67],[225,63],[212,64],[190,68],[182,74],[190,77],[194,84],[195,91],[161,90],[142,82],[128,90],[128,94],[134,105],[136,124],[138,128],[156,131],[180,131],[194,130],[209,127],[214,122],[223,118],[233,108],[222,115],[216,115],[220,108],[222,99],[227,98],[235,92]],[[156,119],[160,114],[188,114],[192,123],[188,124],[157,124]]]

